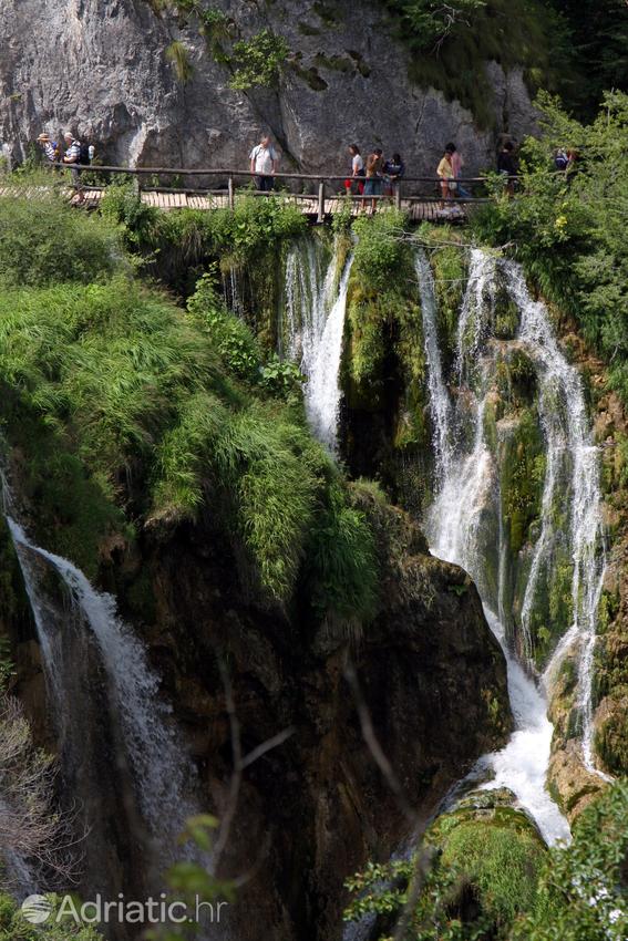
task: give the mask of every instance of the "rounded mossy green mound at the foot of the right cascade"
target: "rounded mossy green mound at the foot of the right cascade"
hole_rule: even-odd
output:
[[[500,806],[498,797],[488,799],[497,806],[480,809],[463,802],[436,819],[426,835],[431,859],[422,854],[383,866],[369,864],[349,879],[347,888],[357,898],[346,920],[375,913],[377,937],[388,940],[422,873],[403,941],[505,941],[519,913],[534,904],[545,851],[523,814]]]

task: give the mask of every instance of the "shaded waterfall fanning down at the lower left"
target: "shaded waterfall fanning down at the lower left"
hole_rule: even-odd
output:
[[[29,539],[11,516],[14,509],[6,480],[2,484],[4,517],[40,641],[63,776],[84,805],[92,829],[85,854],[89,888],[111,891],[120,878],[120,861],[104,861],[110,851],[131,855],[132,871],[141,865],[148,885],[155,885],[164,867],[181,855],[176,839],[195,811],[191,763],[175,741],[146,651],[119,617],[113,597],[97,592],[72,562]],[[49,589],[51,570],[69,609]],[[113,824],[106,821],[111,814]],[[114,850],[115,841],[126,849]],[[142,881],[144,876],[134,872],[132,878]]]

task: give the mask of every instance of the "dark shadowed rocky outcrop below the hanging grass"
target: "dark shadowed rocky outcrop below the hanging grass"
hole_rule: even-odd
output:
[[[420,817],[509,728],[504,661],[475,588],[425,554],[401,511],[368,492],[359,500],[378,535],[382,603],[374,622],[350,637],[347,625],[318,623],[307,606],[288,612],[247,597],[224,532],[208,520],[167,538],[146,535],[131,556],[115,549],[102,570],[150,641],[192,743],[202,800],[218,816],[231,773],[218,659],[231,676],[245,753],[294,728],[244,775],[224,865],[224,875],[254,873],[230,909],[230,937],[239,941],[257,941],[260,926],[281,941],[339,938],[343,879],[409,836],[364,742],[348,659]],[[20,622],[18,690],[42,718],[37,656]]]

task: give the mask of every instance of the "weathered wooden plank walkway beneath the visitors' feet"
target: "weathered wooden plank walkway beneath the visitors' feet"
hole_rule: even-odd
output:
[[[45,186],[0,186],[0,197],[12,196],[27,199],[42,198],[50,190]],[[62,190],[64,195],[73,203],[78,204],[78,199],[73,196],[73,190]],[[106,189],[87,188],[84,190],[84,199],[80,205],[89,209],[95,209]],[[236,199],[239,198],[239,194]],[[301,194],[277,193],[271,196],[258,196],[256,198],[278,199],[285,205],[297,205],[300,207],[305,216],[318,216],[318,198],[316,196],[306,196]],[[172,209],[227,209],[229,207],[229,195],[225,192],[214,193],[193,193],[189,190],[181,192],[162,192],[162,190],[142,190],[141,199],[146,206],[153,206],[156,209],[169,211]],[[382,206],[392,205],[392,199],[379,200]],[[412,221],[454,221],[460,223],[466,219],[464,204],[459,204],[452,199],[449,204],[436,198],[413,198],[402,199],[401,208],[409,214]],[[325,200],[325,216],[331,218],[334,215],[347,211],[347,203],[342,197],[332,197]],[[364,200],[352,200],[351,216],[371,214],[371,208]]]

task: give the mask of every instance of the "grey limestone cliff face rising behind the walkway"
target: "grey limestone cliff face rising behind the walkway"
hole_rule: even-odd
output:
[[[75,127],[101,158],[161,166],[247,166],[261,130],[284,149],[284,169],[343,172],[347,145],[399,149],[409,173],[433,174],[445,141],[470,172],[494,161],[496,134],[533,126],[521,71],[486,63],[494,127],[408,77],[409,54],[377,7],[339,0],[218,4],[243,37],[270,28],[294,51],[277,92],[230,91],[229,73],[192,25],[161,18],[147,0],[6,0],[0,9],[0,145],[23,157],[42,130]],[[317,12],[318,10],[318,12]],[[165,58],[183,41],[194,66],[181,84]]]

